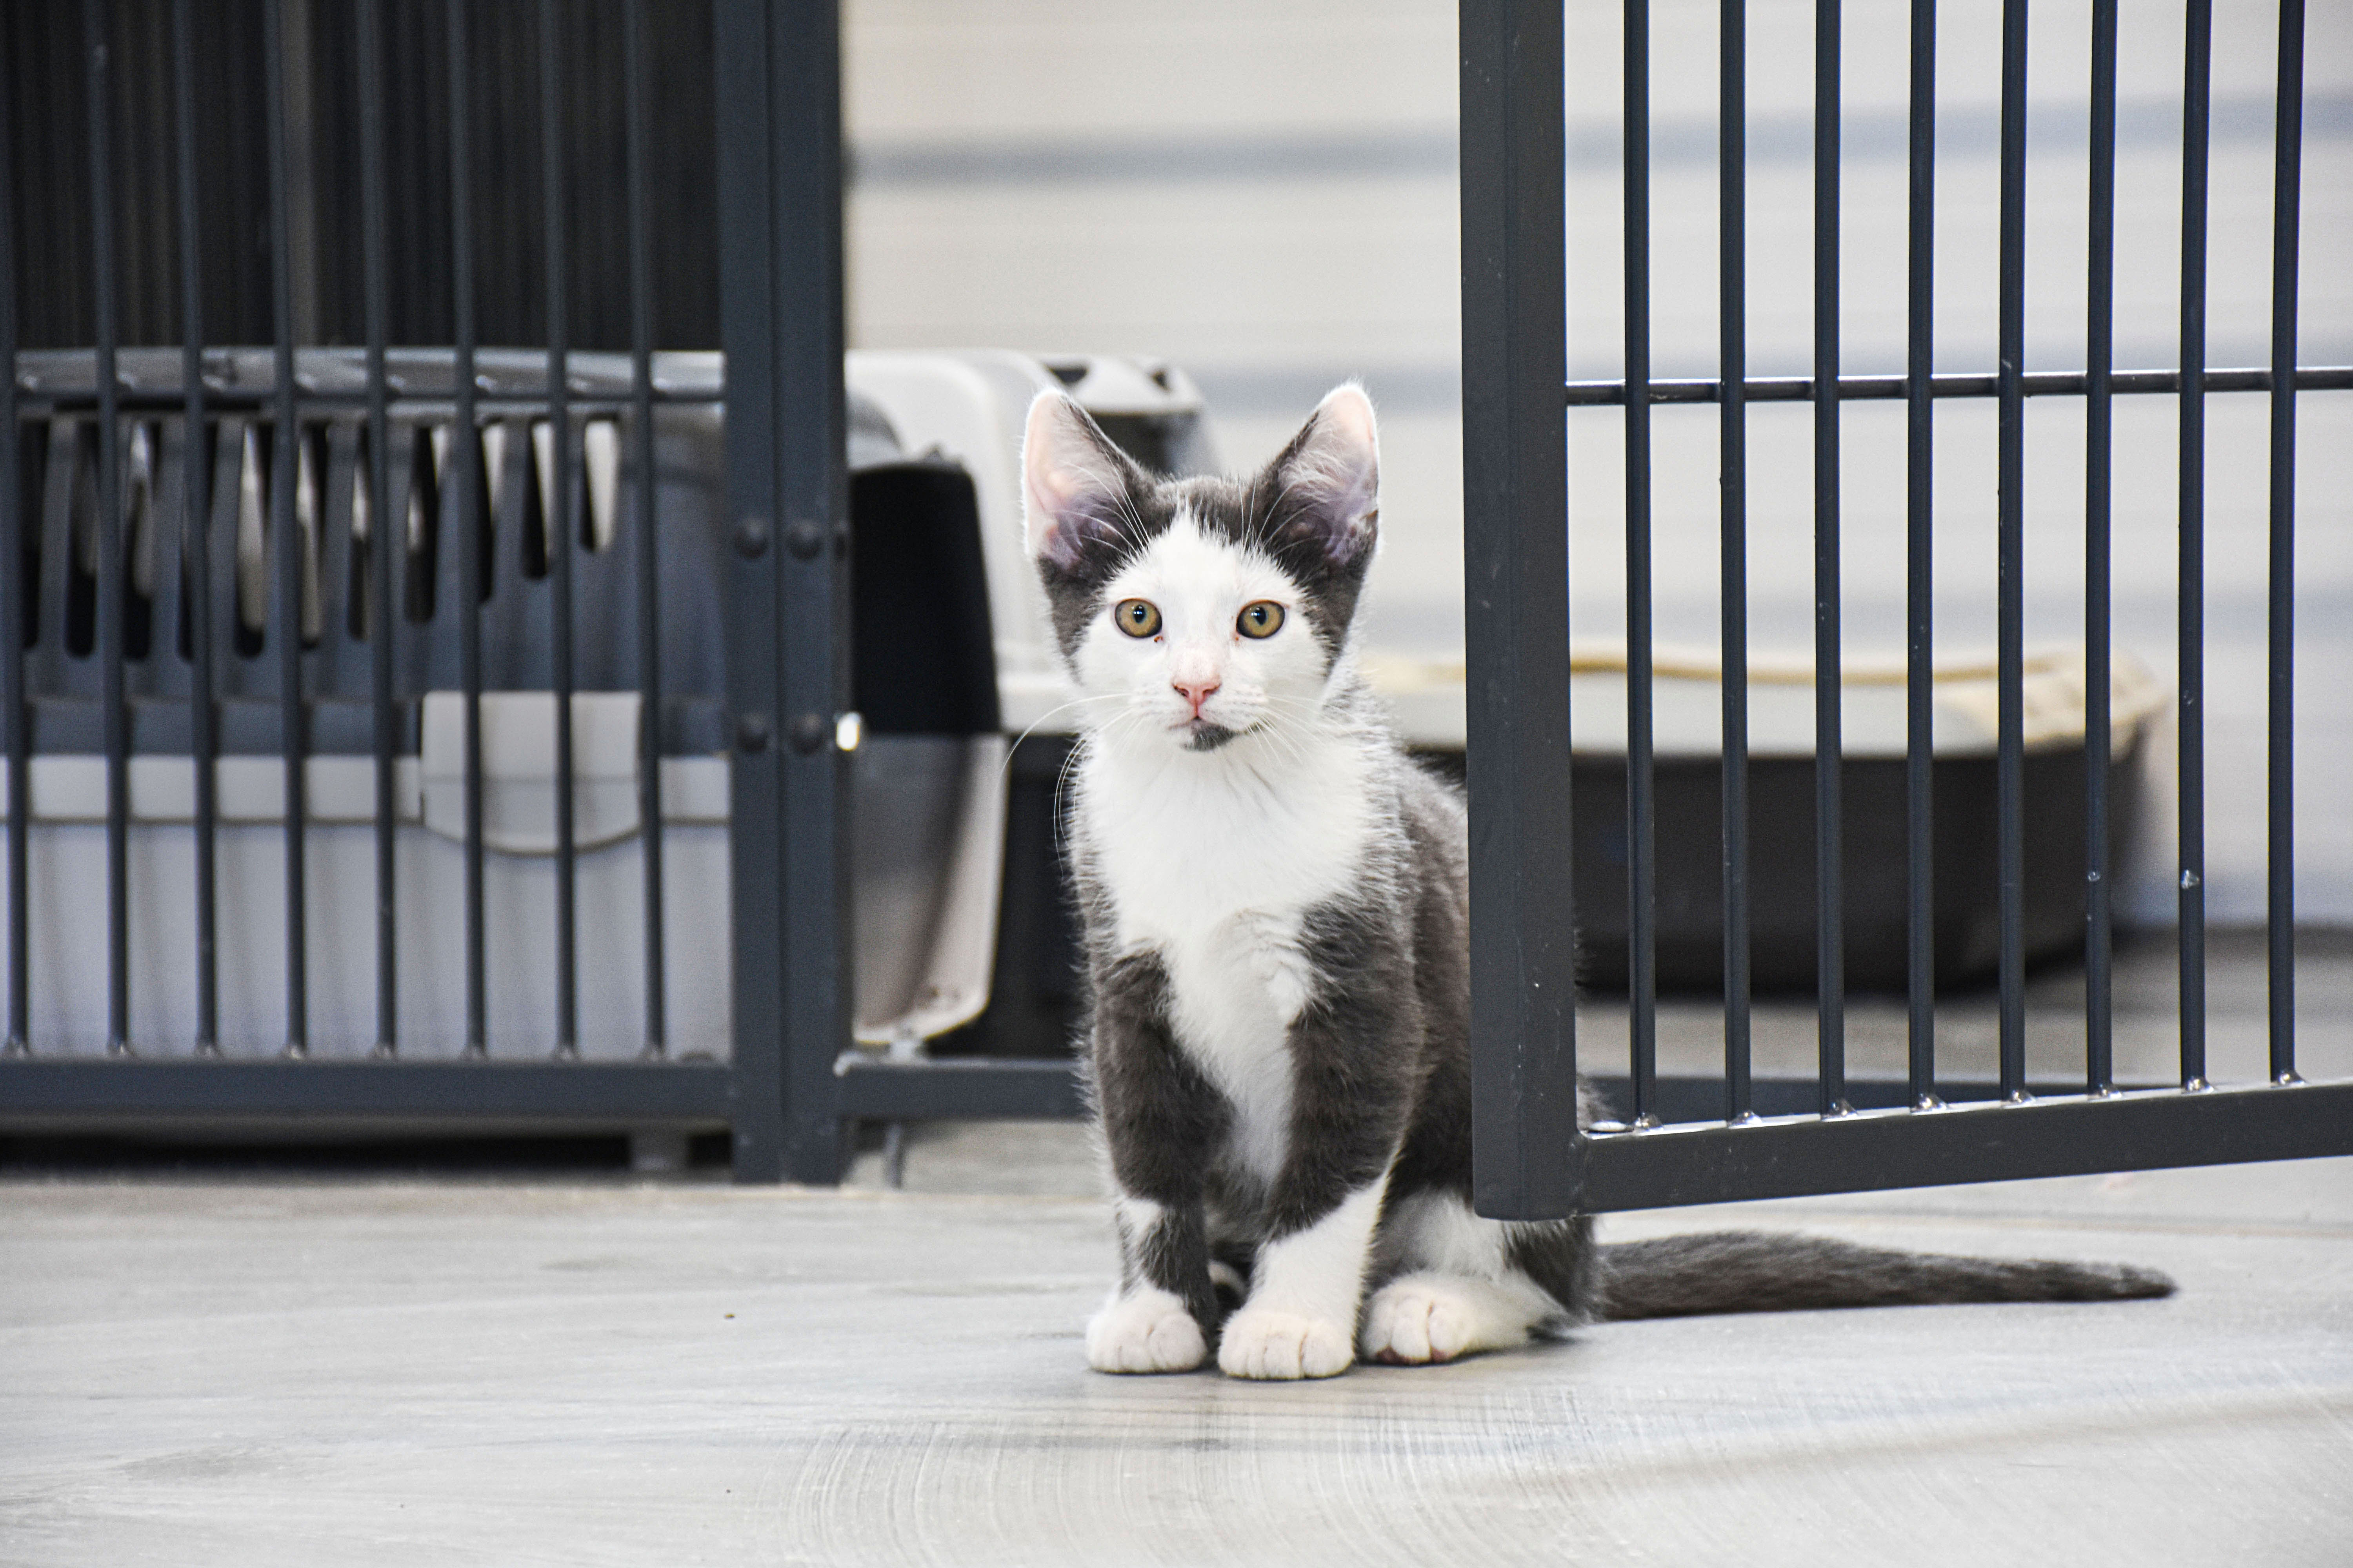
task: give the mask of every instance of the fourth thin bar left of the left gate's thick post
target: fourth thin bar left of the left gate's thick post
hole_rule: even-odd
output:
[[[376,0],[360,0],[360,249],[367,287],[367,552],[374,557],[376,602],[367,625],[369,701],[376,743],[376,1056],[400,1048],[400,971],[395,945],[393,830],[400,809],[393,795],[393,748],[400,715],[393,710],[393,649],[400,630],[402,574],[395,541],[407,529],[391,517],[393,421],[384,381],[386,275],[384,275],[384,78]],[[452,435],[456,435],[452,430]],[[421,461],[424,449],[419,449]],[[414,489],[414,480],[409,482]]]

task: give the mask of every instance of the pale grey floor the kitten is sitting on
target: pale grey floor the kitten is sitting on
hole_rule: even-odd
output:
[[[2353,1161],[1607,1222],[2115,1258],[2167,1302],[1289,1387],[1085,1371],[1080,1128],[875,1180],[12,1180],[0,1563],[2353,1561]]]

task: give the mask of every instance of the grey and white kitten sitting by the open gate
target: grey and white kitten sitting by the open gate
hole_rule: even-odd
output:
[[[2162,1295],[2122,1267],[1805,1237],[1595,1246],[1471,1211],[1468,830],[1351,623],[1379,437],[1341,386],[1247,480],[1144,473],[1059,393],[1026,538],[1080,689],[1071,858],[1120,1281],[1106,1373],[1329,1378],[1591,1319]]]

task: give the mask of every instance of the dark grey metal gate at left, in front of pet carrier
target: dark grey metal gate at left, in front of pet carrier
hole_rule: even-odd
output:
[[[833,7],[68,0],[12,7],[7,26],[0,92],[78,103],[82,120],[28,118],[0,158],[0,181],[49,181],[0,188],[0,1112],[19,1128],[729,1128],[739,1178],[835,1180],[842,1119],[899,1114],[922,1091],[835,1074],[854,733],[838,726]],[[711,158],[715,143],[704,188],[718,277],[656,299],[656,249],[668,268],[680,252],[708,256],[694,233],[656,233],[656,219],[692,230],[699,216],[664,188],[680,132],[652,113],[678,108],[678,73],[661,66],[696,35],[708,59],[687,59],[685,75],[711,82],[711,122],[682,146]],[[0,125],[19,125],[5,101]],[[71,162],[42,160],[52,143],[87,150],[87,195]],[[513,143],[536,153],[529,167],[511,167]],[[584,172],[591,158],[607,167]],[[339,202],[318,200],[329,188]],[[581,190],[609,197],[605,209],[576,212]],[[80,223],[28,235],[28,212]],[[19,277],[21,256],[45,275]],[[513,270],[532,287],[518,294]],[[602,284],[586,313],[581,273]],[[266,294],[242,287],[254,277]],[[336,315],[341,294],[355,299]],[[673,334],[687,320],[692,343],[696,299],[718,301],[708,348],[725,357],[654,355],[656,310]],[[35,343],[59,341],[64,320],[87,331],[64,341],[89,348],[19,357],[21,301],[52,331]],[[214,334],[252,331],[254,317],[268,348],[221,348]],[[506,341],[536,324],[546,350],[485,348],[478,320]],[[581,320],[621,353],[576,350]],[[315,348],[339,331],[351,350]],[[129,348],[158,341],[176,346]],[[449,348],[395,348],[419,341]],[[675,477],[673,447],[715,440],[722,397],[725,484],[701,496]],[[522,893],[520,863],[485,860],[501,832],[485,830],[485,703],[518,686],[513,712],[551,731],[553,795]],[[440,719],[428,689],[447,703]],[[616,741],[633,750],[633,799],[624,788],[612,811],[635,811],[638,863],[628,886],[607,877],[584,893],[593,823],[576,769],[598,712],[635,724]],[[435,813],[421,757],[435,733],[461,870],[456,849],[412,842]],[[675,860],[680,802],[664,788],[706,762],[694,811],[725,823],[725,849],[704,882],[678,884],[664,846]],[[64,799],[59,780],[80,780],[87,811],[66,818],[87,827],[35,825],[45,799]],[[238,790],[266,799],[245,809],[228,799]],[[174,823],[169,844],[155,823]],[[275,849],[252,842],[271,835],[256,823],[278,825]],[[369,849],[346,863],[362,832]],[[68,853],[87,882],[59,870]],[[445,853],[442,872],[419,872],[426,853]],[[261,891],[228,898],[224,877]],[[322,938],[322,910],[355,886],[367,912]],[[240,924],[271,891],[275,943]],[[718,905],[715,1004],[671,983],[682,903]],[[584,976],[584,922],[612,924],[605,905],[638,910],[642,940]],[[85,912],[87,947],[104,947],[87,971],[104,973],[104,1032],[45,1039],[42,1006],[87,1006],[99,990],[71,985],[80,957],[59,952]],[[158,919],[188,926],[186,987],[179,957],[151,973],[132,961],[134,926]],[[372,1004],[341,999],[372,1016],[353,1025],[372,1053],[351,1039],[341,1058],[313,1053],[320,943],[336,938],[372,950]],[[256,973],[282,973],[282,1006],[240,999],[242,1018],[280,1020],[275,1041],[249,1023],[224,1039],[235,943]],[[438,994],[419,1009],[416,978],[405,987],[405,964],[433,961],[419,952],[442,954],[426,985],[449,992],[447,1009]],[[584,1020],[584,994],[621,994],[607,966],[628,971],[638,1018]],[[548,1001],[544,1016],[525,1009],[527,1027],[513,1023],[525,994]],[[715,1009],[715,1030],[682,1039],[687,1001]],[[165,1016],[169,1030],[141,1027]],[[602,1046],[584,1051],[588,1037]]]

